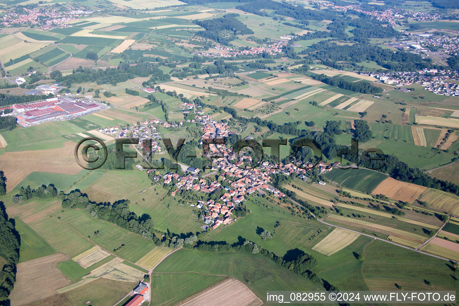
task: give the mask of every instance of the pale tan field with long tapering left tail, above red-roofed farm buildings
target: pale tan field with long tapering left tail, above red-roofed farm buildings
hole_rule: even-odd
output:
[[[84,284],[88,284],[98,278],[107,278],[121,282],[136,282],[139,281],[143,275],[143,272],[123,264],[123,259],[117,257],[102,266],[95,268],[90,274],[85,275],[79,282],[57,289],[57,293],[64,293],[81,287]]]

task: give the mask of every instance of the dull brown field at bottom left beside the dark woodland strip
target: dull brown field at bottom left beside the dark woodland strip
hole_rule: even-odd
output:
[[[24,305],[56,294],[68,279],[57,269],[60,261],[67,260],[63,254],[49,255],[17,264],[16,283],[9,299],[11,306]]]

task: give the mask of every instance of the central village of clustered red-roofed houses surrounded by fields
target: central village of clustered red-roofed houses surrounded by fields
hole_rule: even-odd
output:
[[[189,109],[189,107],[192,108],[192,104],[189,106],[184,103],[183,108],[185,110]],[[202,114],[200,111],[197,111],[197,113]],[[200,144],[205,143],[208,139],[223,139],[231,134],[235,134],[235,132],[229,130],[228,123],[213,120],[212,116],[209,115],[197,115],[195,119],[187,120],[187,122],[201,124],[202,136],[199,140]],[[141,152],[141,155],[148,155],[151,152],[165,153],[164,145],[161,142],[162,136],[157,132],[159,126],[172,128],[183,124],[183,122],[170,124],[168,122],[160,122],[157,119],[150,119],[139,123],[129,128],[119,128],[118,126],[101,128],[99,132],[110,134],[116,138],[139,138],[139,143],[136,144],[136,147]],[[253,138],[248,136],[245,139]],[[251,196],[267,195],[270,193],[280,199],[284,198],[286,195],[270,184],[270,174],[282,173],[289,176],[295,175],[306,181],[308,179],[306,176],[308,171],[312,171],[310,168],[314,167],[310,162],[303,163],[293,158],[293,163],[274,165],[269,161],[262,161],[255,168],[244,168],[246,162],[252,161],[252,157],[243,154],[242,151],[239,156],[236,156],[232,148],[228,148],[224,144],[209,144],[208,147],[205,146],[204,155],[213,157],[213,165],[210,172],[219,173],[221,179],[208,182],[205,179],[206,175],[200,175],[203,174],[202,169],[188,166],[184,169],[183,164],[181,164],[183,174],[180,174],[180,171],[170,172],[167,168],[163,170],[163,173],[158,172],[157,169],[147,170],[155,183],[162,182],[164,187],[173,186],[170,187],[170,194],[172,196],[178,195],[181,190],[202,192],[205,194],[211,194],[218,189],[223,191],[223,195],[217,200],[198,200],[190,204],[190,206],[194,206],[197,209],[204,209],[201,219],[203,223],[202,229],[204,230],[213,230],[220,225],[226,226],[235,222],[236,219],[231,217],[231,212]],[[333,170],[338,165],[339,162],[335,162],[332,165],[319,162],[315,169],[319,171],[319,174],[322,174]],[[136,165],[136,167],[141,171],[146,170],[140,165]],[[225,184],[226,187],[222,186],[221,181],[228,183]],[[173,182],[177,183],[173,184]],[[326,184],[323,181],[319,181],[318,183],[321,185]]]

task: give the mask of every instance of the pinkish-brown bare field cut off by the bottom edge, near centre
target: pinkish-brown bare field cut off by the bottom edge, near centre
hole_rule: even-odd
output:
[[[260,300],[245,284],[239,280],[230,278],[212,289],[206,290],[190,300],[180,304],[181,306],[210,306],[215,305],[218,297],[219,306],[261,306]]]

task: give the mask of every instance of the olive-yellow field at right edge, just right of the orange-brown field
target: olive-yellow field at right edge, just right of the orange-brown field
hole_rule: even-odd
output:
[[[418,200],[425,202],[428,205],[427,207],[447,211],[454,215],[459,214],[459,197],[457,195],[428,188],[421,193]]]

